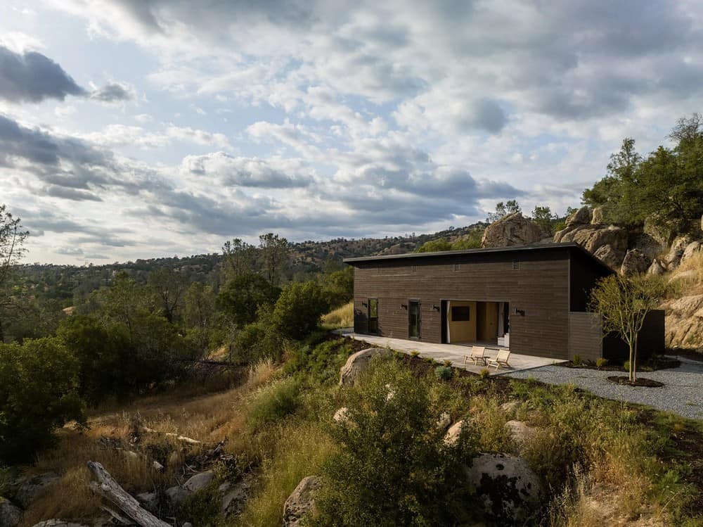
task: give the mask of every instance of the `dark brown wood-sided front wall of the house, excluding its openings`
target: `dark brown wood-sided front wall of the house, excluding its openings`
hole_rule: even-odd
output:
[[[510,350],[566,359],[569,258],[569,249],[554,248],[354,262],[354,329],[368,332],[363,303],[378,298],[378,334],[408,338],[403,306],[419,299],[420,340],[440,343],[441,312],[433,306],[441,300],[509,302]],[[524,315],[513,314],[516,308]]]

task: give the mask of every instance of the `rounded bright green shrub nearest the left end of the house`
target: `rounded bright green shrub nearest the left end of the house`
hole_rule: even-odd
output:
[[[327,309],[327,300],[316,282],[296,282],[283,288],[271,319],[281,335],[299,340],[317,327]]]

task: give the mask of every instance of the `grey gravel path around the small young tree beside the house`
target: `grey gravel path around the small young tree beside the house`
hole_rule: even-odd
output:
[[[679,360],[681,366],[678,368],[638,374],[664,383],[661,388],[619,386],[607,380],[607,376],[617,375],[617,372],[560,366],[543,366],[523,372],[507,373],[504,376],[515,379],[532,377],[549,384],[573,383],[599,397],[636,402],[666,412],[675,412],[690,419],[703,419],[703,362],[681,358]]]

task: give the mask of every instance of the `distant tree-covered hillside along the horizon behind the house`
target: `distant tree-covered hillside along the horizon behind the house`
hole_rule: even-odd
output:
[[[344,258],[409,253],[427,241],[440,238],[454,241],[477,230],[483,231],[486,225],[484,222],[478,222],[467,227],[450,227],[444,231],[416,236],[337,238],[329,241],[290,243],[290,268],[286,277],[293,280],[308,279],[325,268],[340,267]],[[91,291],[110,284],[113,275],[120,271],[126,271],[140,281],[146,281],[149,272],[167,267],[178,270],[191,281],[217,285],[221,260],[221,253],[213,253],[105,265],[25,264],[18,266],[18,269],[23,286],[34,296],[56,299],[65,305],[71,305],[75,298],[84,298]]]

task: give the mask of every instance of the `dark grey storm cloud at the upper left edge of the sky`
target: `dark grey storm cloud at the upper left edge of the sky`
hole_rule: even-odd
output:
[[[44,99],[63,101],[67,95],[84,96],[86,91],[51,58],[36,51],[15,53],[0,46],[1,99],[39,103]]]

